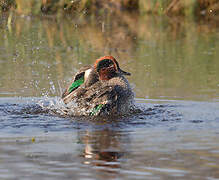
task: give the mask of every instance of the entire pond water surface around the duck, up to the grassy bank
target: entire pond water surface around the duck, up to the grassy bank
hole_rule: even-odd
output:
[[[0,179],[219,179],[216,23],[6,14],[0,34]],[[63,116],[72,75],[107,54],[141,111]]]

